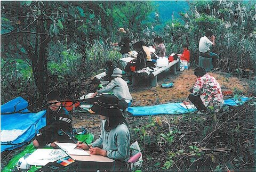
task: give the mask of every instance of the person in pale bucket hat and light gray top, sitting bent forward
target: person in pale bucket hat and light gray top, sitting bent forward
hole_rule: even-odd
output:
[[[130,107],[132,103],[132,96],[126,81],[122,78],[122,70],[115,68],[111,78],[112,79],[107,86],[103,87],[102,89],[98,89],[97,92],[95,92],[92,96],[108,93],[109,91],[113,90],[113,94],[117,96],[119,100],[119,109],[126,111],[126,108]]]

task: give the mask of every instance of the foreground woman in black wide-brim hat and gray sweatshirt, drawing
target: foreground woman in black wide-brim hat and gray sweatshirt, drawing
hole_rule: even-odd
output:
[[[98,103],[91,108],[93,112],[99,114],[102,119],[101,135],[95,142],[89,146],[77,142],[78,149],[89,150],[91,154],[102,155],[115,160],[114,169],[105,169],[106,171],[127,171],[125,165],[130,158],[130,132],[127,122],[122,116],[122,112],[118,109],[118,99],[114,95],[102,94]],[[90,162],[88,162],[90,164]],[[95,168],[109,168],[100,165]],[[89,170],[86,162],[82,162],[81,169]],[[95,171],[97,169],[90,169]],[[101,170],[103,171],[103,170]]]

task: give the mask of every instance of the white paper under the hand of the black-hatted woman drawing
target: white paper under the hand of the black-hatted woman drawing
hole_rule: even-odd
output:
[[[75,143],[56,143],[60,149],[71,155],[85,155],[90,156],[89,153],[85,152],[83,149],[74,149],[76,147]]]

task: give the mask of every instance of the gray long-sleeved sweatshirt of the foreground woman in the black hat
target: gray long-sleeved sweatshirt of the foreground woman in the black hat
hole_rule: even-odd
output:
[[[102,120],[100,138],[91,143],[91,145],[107,150],[108,158],[125,162],[128,161],[130,158],[129,129],[125,124],[121,124],[106,132],[104,129],[105,122],[106,120]]]

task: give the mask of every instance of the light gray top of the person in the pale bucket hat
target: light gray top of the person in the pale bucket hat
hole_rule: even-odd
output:
[[[132,100],[129,87],[123,78],[117,77],[112,79],[106,87],[97,90],[97,92],[100,94],[108,93],[111,89],[113,89],[113,93],[118,97],[118,100]]]

